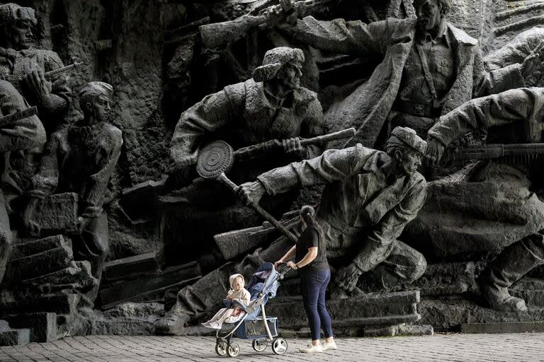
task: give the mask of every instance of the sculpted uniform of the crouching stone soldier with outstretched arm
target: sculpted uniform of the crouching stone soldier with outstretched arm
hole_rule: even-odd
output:
[[[328,184],[317,211],[327,255],[332,259],[347,256],[361,271],[370,271],[395,250],[396,259],[404,262],[389,260],[390,270],[379,273],[384,284],[394,285],[395,279],[397,283],[417,279],[426,268],[419,252],[397,240],[423,206],[426,182],[419,173],[387,180],[380,169],[387,158],[384,152],[357,144],[276,168],[258,179],[268,194]]]

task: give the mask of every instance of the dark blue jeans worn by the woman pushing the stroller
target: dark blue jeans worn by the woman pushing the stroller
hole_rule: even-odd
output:
[[[300,269],[300,291],[304,309],[310,323],[312,341],[319,339],[319,329],[323,327],[325,338],[332,337],[331,316],[325,306],[325,291],[331,281],[331,271]]]

